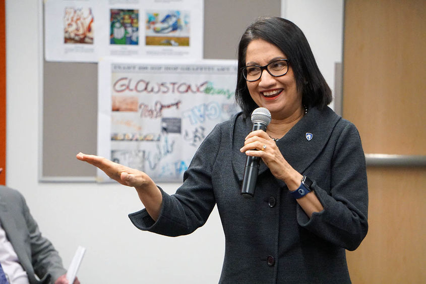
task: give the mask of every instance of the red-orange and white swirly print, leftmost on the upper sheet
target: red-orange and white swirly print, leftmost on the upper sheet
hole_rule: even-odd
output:
[[[91,8],[66,7],[64,42],[93,44],[93,20]]]

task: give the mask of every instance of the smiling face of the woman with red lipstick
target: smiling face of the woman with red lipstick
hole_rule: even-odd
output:
[[[263,39],[254,39],[247,46],[246,66],[265,66],[279,59],[287,59],[287,56],[276,45]],[[287,74],[280,77],[273,77],[264,70],[261,78],[247,82],[247,87],[252,99],[257,105],[268,108],[273,119],[285,119],[303,113],[302,96],[297,91],[291,67]]]

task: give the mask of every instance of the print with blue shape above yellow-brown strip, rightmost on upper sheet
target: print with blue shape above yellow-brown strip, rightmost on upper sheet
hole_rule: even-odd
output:
[[[147,11],[146,45],[190,46],[188,11]]]

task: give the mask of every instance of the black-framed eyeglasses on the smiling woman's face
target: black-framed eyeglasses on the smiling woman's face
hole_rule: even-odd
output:
[[[280,77],[288,72],[288,59],[279,59],[265,66],[249,65],[241,68],[242,75],[249,82],[254,82],[262,77],[263,70],[268,71],[271,76]]]

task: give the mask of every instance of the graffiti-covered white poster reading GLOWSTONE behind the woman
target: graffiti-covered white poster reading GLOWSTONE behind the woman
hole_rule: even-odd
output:
[[[98,155],[147,173],[155,182],[181,182],[213,127],[235,104],[237,63],[98,64]],[[99,182],[111,181],[98,170]]]

